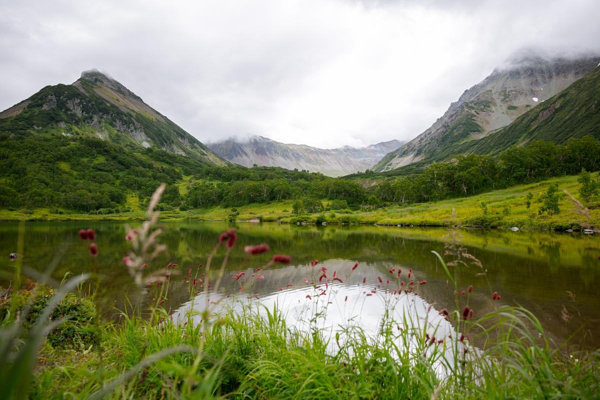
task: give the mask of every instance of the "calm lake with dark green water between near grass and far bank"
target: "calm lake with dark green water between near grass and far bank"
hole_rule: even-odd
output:
[[[95,302],[105,317],[116,318],[116,310],[124,309],[126,302],[145,309],[155,296],[154,287],[137,287],[122,262],[130,248],[125,240],[128,227],[139,224],[2,222],[0,268],[10,273],[15,263],[8,254],[20,252],[24,270],[43,272],[56,263],[52,276],[58,281],[68,273],[92,272],[97,278],[83,290],[95,291]],[[206,263],[218,235],[235,227],[238,242],[227,263],[221,293],[237,293],[239,287],[233,275],[243,270],[250,277],[254,268],[278,253],[290,255],[292,262],[260,271],[264,279],[255,282],[252,294],[266,303],[277,301],[283,309],[310,301],[305,295],[319,291],[310,281],[316,281],[319,268],[325,266],[330,278],[336,271],[343,281],[333,282],[337,301],[346,301],[346,296],[355,301],[362,299],[359,313],[370,313],[374,321],[380,309],[374,299],[386,288],[397,289],[400,280],[406,281],[403,288],[415,281],[417,294],[408,296],[431,305],[436,314],[442,309],[452,311],[454,287],[431,253],[437,251],[446,261],[464,261],[451,270],[457,276],[459,291],[473,285],[469,305],[475,309],[476,317],[499,305],[521,305],[542,321],[547,335],[557,342],[574,335],[573,344],[600,347],[600,335],[593,329],[600,323],[600,237],[596,234],[250,222],[185,221],[160,225],[164,229],[160,242],[168,250],[147,268],[159,270],[167,263],[178,264],[175,270],[179,274],[173,273],[163,305],[167,309],[185,307],[190,300],[191,282],[185,282],[184,276],[190,268],[196,275],[197,265]],[[83,242],[77,234],[80,228],[88,227],[97,233],[97,257],[89,255],[89,242]],[[244,246],[259,243],[268,243],[272,251],[248,260]],[[221,265],[223,254],[223,249],[217,252],[214,269]],[[314,259],[319,260],[316,267],[311,266]],[[358,267],[352,271],[355,263]],[[399,268],[403,272],[397,279]],[[407,279],[409,269],[413,272]],[[418,285],[419,281],[427,284]],[[7,283],[6,279],[2,281],[3,286]],[[492,299],[494,291],[502,296],[501,300]],[[332,312],[335,314],[335,308]]]

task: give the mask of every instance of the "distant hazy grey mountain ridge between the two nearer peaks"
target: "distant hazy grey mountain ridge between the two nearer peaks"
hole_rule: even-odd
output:
[[[257,164],[320,172],[327,176],[343,176],[370,169],[383,155],[397,149],[403,143],[400,140],[390,140],[359,149],[350,146],[319,149],[253,136],[244,142],[227,139],[223,142],[208,143],[208,147],[225,160],[246,167]]]

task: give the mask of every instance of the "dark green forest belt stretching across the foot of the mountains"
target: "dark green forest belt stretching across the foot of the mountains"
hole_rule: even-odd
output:
[[[460,155],[365,188],[352,179],[276,167],[207,167],[193,158],[130,151],[100,139],[0,135],[0,207],[119,212],[127,209],[128,195],[143,203],[165,182],[163,209],[294,200],[294,212],[310,213],[319,211],[319,199],[328,199],[333,209],[372,209],[471,196],[582,169],[600,169],[600,142],[592,136],[564,146],[539,140],[497,157]],[[182,196],[177,184],[184,176],[191,178]]]

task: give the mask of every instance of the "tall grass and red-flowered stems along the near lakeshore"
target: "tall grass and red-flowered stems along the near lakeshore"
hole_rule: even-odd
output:
[[[154,211],[162,191],[164,187],[149,201],[146,221],[123,238],[131,245],[122,261],[132,284],[154,295],[147,308],[124,309],[113,323],[92,318],[91,324],[101,327],[95,330],[99,341],[79,340],[79,345],[67,349],[62,342],[44,341],[44,337],[86,312],[62,310],[62,319],[56,321],[49,321],[49,316],[61,302],[73,301],[65,296],[74,296],[67,293],[89,276],[71,278],[62,287],[54,282],[56,293],[41,306],[44,295],[40,294],[45,290],[41,283],[52,282],[41,276],[39,285],[28,284],[29,300],[7,302],[11,311],[4,314],[0,326],[0,383],[7,398],[598,396],[599,353],[554,343],[535,315],[500,305],[502,293],[487,281],[485,266],[467,254],[460,242],[448,243],[444,257],[430,255],[437,257],[453,293],[454,308],[449,311],[421,300],[418,292],[428,282],[412,269],[391,269],[374,282],[364,276],[354,298],[344,299],[337,296],[337,284],[360,276],[361,263],[334,270],[314,260],[307,286],[287,287],[304,302],[296,320],[298,316],[287,315],[283,304],[262,305],[253,294],[265,270],[274,263],[290,263],[287,255],[272,255],[271,261],[257,267],[253,257],[268,255],[271,249],[268,244],[247,246],[247,269],[225,273],[238,243],[233,228],[215,237],[202,264],[155,265],[155,257],[167,251]],[[94,240],[96,234],[82,230],[79,236]],[[102,250],[89,243],[93,263]],[[223,257],[220,266],[212,262],[215,255]],[[14,282],[20,281],[19,260],[15,260]],[[487,285],[459,282],[463,268],[481,271]],[[186,282],[190,302],[177,310],[164,309],[173,279]],[[224,279],[236,282],[237,296],[224,289]],[[479,315],[470,301],[473,296],[488,297],[497,304],[495,310]],[[385,305],[376,326],[353,319],[328,325],[328,315],[338,314],[345,305],[355,302],[361,307],[373,299]],[[23,313],[37,308],[40,317],[25,326]]]

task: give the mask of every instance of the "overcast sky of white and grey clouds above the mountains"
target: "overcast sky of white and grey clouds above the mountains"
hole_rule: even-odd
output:
[[[97,68],[201,142],[410,140],[524,47],[600,52],[600,1],[0,0],[0,110]]]

